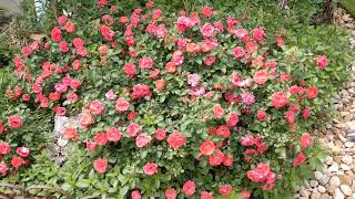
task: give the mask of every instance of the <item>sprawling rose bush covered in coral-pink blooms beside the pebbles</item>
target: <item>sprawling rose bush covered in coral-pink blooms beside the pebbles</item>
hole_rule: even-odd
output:
[[[282,34],[210,7],[174,15],[148,2],[121,15],[100,0],[98,10],[84,23],[61,15],[47,41],[23,46],[13,59],[19,81],[7,90],[21,106],[79,116],[63,136],[91,164],[63,189],[246,199],[292,193],[308,177],[320,159],[312,124],[322,93],[287,64],[294,54]],[[325,55],[306,59],[310,73],[329,73]],[[0,133],[21,132],[29,118],[13,113]],[[0,143],[3,178],[34,164],[26,142],[9,142]]]

